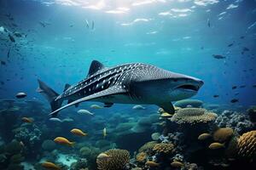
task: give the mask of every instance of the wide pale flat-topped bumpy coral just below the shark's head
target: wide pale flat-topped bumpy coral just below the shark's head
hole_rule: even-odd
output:
[[[178,124],[190,123],[195,124],[199,122],[211,122],[216,119],[217,114],[209,112],[202,108],[184,108],[175,113],[171,121]]]

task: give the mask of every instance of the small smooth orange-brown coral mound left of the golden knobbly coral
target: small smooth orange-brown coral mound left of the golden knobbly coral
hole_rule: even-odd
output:
[[[219,128],[213,133],[213,139],[218,142],[224,142],[233,135],[234,131],[230,127]]]

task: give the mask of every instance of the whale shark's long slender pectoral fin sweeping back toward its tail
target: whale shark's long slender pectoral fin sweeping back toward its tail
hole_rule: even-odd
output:
[[[92,99],[99,99],[99,98],[103,98],[103,97],[113,95],[113,94],[125,94],[125,93],[127,93],[127,91],[124,88],[121,88],[119,86],[113,86],[111,88],[107,88],[105,90],[102,90],[101,92],[98,92],[96,94],[91,94],[91,95],[86,96],[84,98],[77,99],[77,100],[71,102],[70,104],[63,105],[61,108],[51,112],[49,115],[50,116],[55,116],[55,114],[58,111],[66,109],[67,107],[72,106],[72,105],[79,105],[79,103],[84,102],[84,101],[89,101],[89,100],[92,100]]]

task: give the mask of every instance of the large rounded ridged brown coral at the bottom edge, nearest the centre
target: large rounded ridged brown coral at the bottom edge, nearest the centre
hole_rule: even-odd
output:
[[[127,150],[107,150],[104,152],[109,157],[104,159],[97,159],[97,166],[99,170],[122,170],[130,161],[130,154]]]

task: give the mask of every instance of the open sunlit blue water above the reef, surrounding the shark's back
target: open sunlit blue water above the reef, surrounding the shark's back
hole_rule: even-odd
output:
[[[143,62],[199,77],[205,84],[194,98],[205,102],[255,104],[255,1],[145,2],[1,0],[0,26],[26,35],[10,42],[1,33],[1,98],[22,91],[27,99],[45,101],[35,92],[37,78],[61,93],[65,83],[86,77],[97,59],[107,66]],[[249,51],[241,54],[244,47]]]

